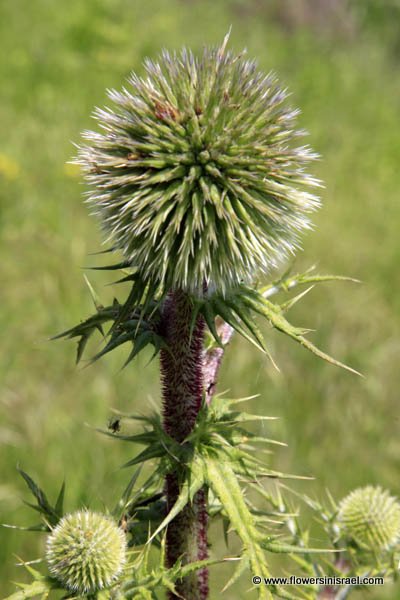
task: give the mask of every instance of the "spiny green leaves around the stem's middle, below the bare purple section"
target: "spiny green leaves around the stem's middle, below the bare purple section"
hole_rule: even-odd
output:
[[[264,532],[270,525],[270,518],[262,510],[255,510],[243,494],[241,482],[261,482],[263,478],[285,478],[283,473],[267,468],[260,454],[259,445],[278,444],[264,436],[258,436],[248,431],[244,425],[250,422],[266,421],[269,417],[252,415],[235,408],[243,400],[229,400],[225,397],[215,397],[211,406],[204,404],[193,432],[182,443],[178,444],[170,438],[162,428],[158,415],[140,417],[127,415],[125,418],[139,420],[145,424],[142,434],[132,436],[119,433],[104,432],[106,435],[123,441],[144,444],[146,448],[124,466],[142,464],[148,460],[159,459],[155,473],[145,483],[149,497],[154,495],[154,484],[162,485],[163,476],[176,469],[179,465],[181,488],[175,505],[165,518],[163,510],[159,512],[159,524],[149,523],[152,533],[149,542],[154,540],[183,510],[193,501],[195,494],[204,486],[208,489],[217,503],[216,510],[210,508],[214,516],[222,516],[229,523],[229,528],[240,538],[243,548],[237,571],[242,573],[245,568],[253,573],[267,577],[269,574],[265,551],[293,553],[303,551],[294,545],[282,544],[281,536],[275,537]],[[135,474],[136,477],[136,474]],[[259,484],[262,489],[262,484]],[[136,509],[129,502],[124,504],[124,510],[136,518]],[[265,519],[265,517],[267,517]],[[128,526],[134,536],[134,528]],[[312,551],[309,549],[309,551]],[[270,598],[270,591],[265,586],[258,588],[260,598]],[[276,589],[280,597],[291,597],[283,590]]]

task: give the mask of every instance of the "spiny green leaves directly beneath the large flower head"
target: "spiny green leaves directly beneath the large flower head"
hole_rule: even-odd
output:
[[[101,269],[118,270],[126,266],[128,266],[126,263],[120,263],[101,267]],[[290,292],[297,286],[328,281],[357,282],[356,279],[351,277],[318,275],[313,273],[312,267],[304,273],[296,273],[294,275],[291,274],[291,269],[289,269],[278,280],[258,290],[242,284],[236,288],[232,288],[225,294],[213,292],[205,294],[203,297],[193,296],[192,329],[197,317],[202,315],[215,342],[223,346],[215,324],[216,318],[221,317],[235,331],[253,343],[259,350],[266,353],[273,365],[278,369],[255,320],[255,316],[258,315],[266,319],[272,327],[289,336],[319,358],[359,375],[360,373],[355,369],[335,360],[310,342],[305,337],[305,334],[310,330],[294,327],[284,317],[284,313],[294,306],[311,288],[280,304],[272,303],[268,299],[281,291]],[[114,298],[111,306],[103,307],[97,296],[93,296],[94,291],[90,286],[89,289],[96,305],[96,313],[82,323],[53,338],[79,338],[77,362],[82,358],[88,340],[96,331],[101,333],[106,342],[104,348],[92,358],[92,361],[98,360],[111,350],[125,343],[131,343],[132,350],[124,366],[130,363],[148,345],[154,347],[152,358],[158,354],[161,348],[167,348],[167,344],[159,328],[160,307],[165,297],[165,289],[159,285],[146,284],[135,271],[123,277],[118,283],[120,282],[133,282],[127,299],[124,302],[120,303]],[[105,323],[111,323],[106,334],[103,329]]]

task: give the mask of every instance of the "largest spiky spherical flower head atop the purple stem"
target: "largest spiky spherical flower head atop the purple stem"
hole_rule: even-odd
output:
[[[109,91],[77,162],[114,248],[165,288],[223,293],[277,266],[310,227],[316,158],[272,74],[220,48],[164,51]]]

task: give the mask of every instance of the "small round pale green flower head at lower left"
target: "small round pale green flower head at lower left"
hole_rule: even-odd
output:
[[[50,573],[64,588],[91,594],[109,587],[125,564],[125,535],[102,514],[78,511],[66,515],[47,539]]]

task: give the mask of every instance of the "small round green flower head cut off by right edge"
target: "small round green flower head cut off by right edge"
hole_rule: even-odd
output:
[[[400,539],[400,504],[381,487],[358,488],[341,501],[337,522],[360,549],[379,553]]]

